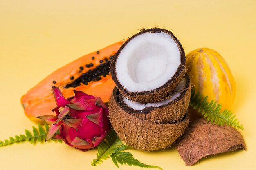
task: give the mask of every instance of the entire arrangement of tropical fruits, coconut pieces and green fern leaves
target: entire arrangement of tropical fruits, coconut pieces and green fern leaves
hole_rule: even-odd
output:
[[[92,166],[111,158],[117,167],[162,170],[124,150],[175,146],[186,166],[192,166],[208,155],[246,150],[237,130],[244,127],[228,110],[235,94],[231,70],[219,53],[199,48],[185,56],[170,31],[141,29],[31,88],[21,104],[25,115],[40,123],[38,129],[0,141],[0,147],[64,141],[83,151],[97,147]]]

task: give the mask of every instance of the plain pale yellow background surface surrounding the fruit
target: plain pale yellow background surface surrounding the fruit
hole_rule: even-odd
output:
[[[237,87],[232,110],[245,127],[247,151],[210,156],[192,167],[184,165],[175,148],[129,151],[164,170],[256,169],[255,9],[255,0],[0,1],[0,139],[23,134],[35,125],[23,114],[20,97],[52,71],[140,28],[159,25],[172,30],[186,53],[209,47],[228,62]],[[92,167],[95,157],[95,149],[81,152],[65,144],[25,142],[0,148],[0,169],[117,169],[110,159]]]

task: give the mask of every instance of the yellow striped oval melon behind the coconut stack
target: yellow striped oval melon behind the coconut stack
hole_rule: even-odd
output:
[[[236,84],[227,62],[216,51],[200,48],[186,55],[186,68],[196,92],[229,109],[236,96]]]

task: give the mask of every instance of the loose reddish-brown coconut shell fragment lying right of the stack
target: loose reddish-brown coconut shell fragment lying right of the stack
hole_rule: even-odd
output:
[[[245,141],[235,128],[211,124],[205,119],[192,121],[175,147],[186,166],[208,155],[231,152],[238,148],[246,150]]]

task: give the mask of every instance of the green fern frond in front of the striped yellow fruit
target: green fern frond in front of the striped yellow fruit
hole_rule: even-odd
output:
[[[217,125],[224,125],[233,126],[234,128],[244,129],[243,125],[240,125],[240,122],[235,119],[236,116],[232,115],[233,113],[230,110],[221,110],[221,104],[217,105],[216,101],[211,101],[210,103],[207,102],[207,97],[202,97],[202,95],[195,93],[195,89],[191,91],[191,99],[189,105],[192,106],[194,109],[198,109],[198,112],[202,112],[204,118],[211,123]]]

